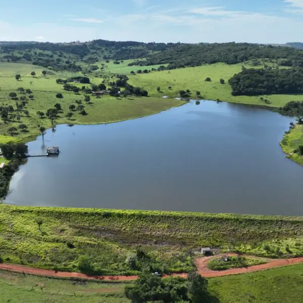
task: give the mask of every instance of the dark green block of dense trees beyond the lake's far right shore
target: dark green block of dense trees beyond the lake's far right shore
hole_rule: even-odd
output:
[[[303,93],[303,68],[243,69],[228,83],[235,96]]]

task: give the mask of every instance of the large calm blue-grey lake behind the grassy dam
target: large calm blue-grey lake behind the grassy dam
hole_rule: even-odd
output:
[[[161,100],[159,100],[161,102]],[[194,102],[108,125],[59,125],[13,176],[7,204],[303,215],[303,167],[279,141],[293,118]]]

